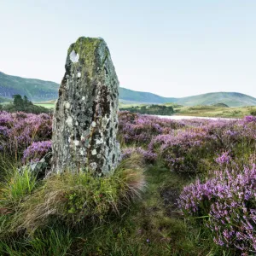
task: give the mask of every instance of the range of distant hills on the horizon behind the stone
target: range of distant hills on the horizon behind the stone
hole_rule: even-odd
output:
[[[59,84],[38,80],[24,79],[0,72],[1,97],[10,99],[15,94],[26,95],[32,102],[46,102],[58,97]],[[119,88],[119,102],[161,104],[172,102],[183,106],[225,104],[229,107],[255,106],[256,98],[237,92],[212,92],[183,98],[162,97],[150,92]]]

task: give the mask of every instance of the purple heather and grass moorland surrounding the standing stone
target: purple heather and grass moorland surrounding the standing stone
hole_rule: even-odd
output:
[[[255,254],[255,117],[120,112],[112,176],[18,171],[51,151],[51,122],[0,112],[0,255]]]

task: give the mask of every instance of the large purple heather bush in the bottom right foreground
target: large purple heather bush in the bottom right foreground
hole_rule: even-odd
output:
[[[215,172],[206,183],[197,180],[183,189],[178,204],[187,215],[207,218],[214,241],[256,252],[256,166]]]

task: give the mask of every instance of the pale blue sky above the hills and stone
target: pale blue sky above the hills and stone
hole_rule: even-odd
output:
[[[120,86],[256,97],[255,0],[0,0],[0,71],[61,83],[77,38],[104,38]]]

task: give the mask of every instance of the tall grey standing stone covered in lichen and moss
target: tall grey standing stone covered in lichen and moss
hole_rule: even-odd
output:
[[[67,51],[53,122],[51,172],[92,170],[119,162],[119,80],[102,38],[79,38]]]

